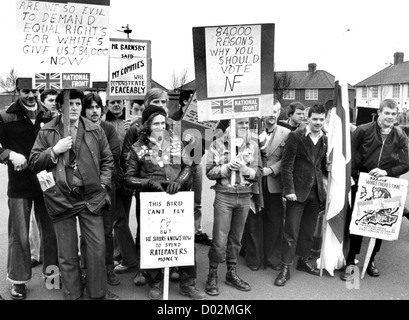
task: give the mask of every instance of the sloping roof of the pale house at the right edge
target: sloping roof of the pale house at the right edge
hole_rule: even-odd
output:
[[[409,83],[409,61],[392,64],[357,83],[355,87],[379,86],[387,84]]]

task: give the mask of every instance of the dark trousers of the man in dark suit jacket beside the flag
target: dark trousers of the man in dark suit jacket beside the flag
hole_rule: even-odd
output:
[[[304,259],[309,257],[320,206],[316,188],[305,202],[287,201],[281,252],[283,264],[291,265],[296,254]]]

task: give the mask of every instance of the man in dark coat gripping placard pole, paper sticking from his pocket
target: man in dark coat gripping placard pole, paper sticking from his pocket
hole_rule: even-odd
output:
[[[62,105],[65,91],[57,97]],[[78,259],[77,217],[86,244],[87,287],[90,298],[118,300],[107,291],[102,210],[110,205],[114,161],[103,129],[80,116],[81,91],[69,92],[70,135],[63,137],[62,116],[45,125],[31,150],[29,165],[34,172],[47,170],[55,184],[44,191],[54,222],[64,298],[83,295]],[[63,111],[64,113],[64,111]],[[69,161],[65,163],[64,153]]]

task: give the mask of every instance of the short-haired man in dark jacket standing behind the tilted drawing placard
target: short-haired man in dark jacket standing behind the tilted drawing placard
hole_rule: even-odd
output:
[[[358,126],[352,134],[352,198],[355,198],[360,172],[367,172],[374,177],[399,177],[409,170],[408,137],[399,126],[395,126],[398,105],[395,100],[385,99],[378,109],[376,121]],[[362,236],[350,234],[350,248],[346,259],[345,271],[341,280],[353,279],[355,256],[359,254]],[[382,240],[376,239],[375,247],[369,260],[367,273],[379,277],[375,265],[375,255],[381,248]]]

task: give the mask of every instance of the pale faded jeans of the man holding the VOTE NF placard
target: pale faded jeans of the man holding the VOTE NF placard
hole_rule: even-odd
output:
[[[224,261],[236,265],[250,209],[250,193],[216,191],[213,208],[213,241],[208,254],[210,266],[217,267]]]

